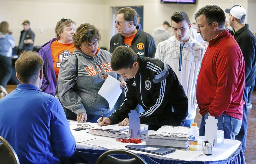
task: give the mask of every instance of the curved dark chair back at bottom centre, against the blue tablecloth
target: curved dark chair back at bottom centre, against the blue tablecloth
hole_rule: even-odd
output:
[[[118,159],[116,157],[110,156],[110,154],[125,154],[128,156],[131,156],[133,158],[131,159]],[[113,149],[106,151],[103,153],[98,160],[96,161],[96,164],[105,164],[105,163],[111,163],[111,164],[147,164],[147,162],[141,158],[139,155],[136,155],[128,150],[123,149]]]

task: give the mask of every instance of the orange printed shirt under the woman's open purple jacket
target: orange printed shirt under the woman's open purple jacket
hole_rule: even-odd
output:
[[[60,69],[60,63],[63,59],[71,55],[75,48],[74,43],[70,44],[62,44],[55,40],[51,44],[52,49],[52,56],[53,56],[53,67],[56,75],[56,79],[58,81],[58,75],[59,75],[59,69]]]

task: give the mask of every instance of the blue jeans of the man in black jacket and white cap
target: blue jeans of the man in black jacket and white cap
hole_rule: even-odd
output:
[[[245,152],[246,148],[246,137],[247,137],[247,103],[248,103],[248,98],[250,94],[251,87],[245,87],[244,95],[243,95],[243,100],[245,101],[245,105],[243,108],[244,115],[243,115],[243,122],[241,129],[239,133],[235,136],[235,139],[239,140],[242,142],[242,149]]]

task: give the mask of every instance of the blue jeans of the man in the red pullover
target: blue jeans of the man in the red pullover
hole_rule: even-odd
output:
[[[205,119],[208,119],[208,113],[206,113],[205,116],[202,116],[199,128],[200,136],[204,136],[206,123]],[[242,120],[235,119],[224,113],[222,113],[220,117],[216,117],[215,119],[218,120],[218,130],[224,130],[224,138],[235,139],[235,136],[239,133],[239,130],[241,128]]]

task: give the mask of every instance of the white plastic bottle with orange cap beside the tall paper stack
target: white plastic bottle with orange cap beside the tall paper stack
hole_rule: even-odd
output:
[[[191,124],[189,133],[189,150],[199,150],[199,130],[197,123]]]

